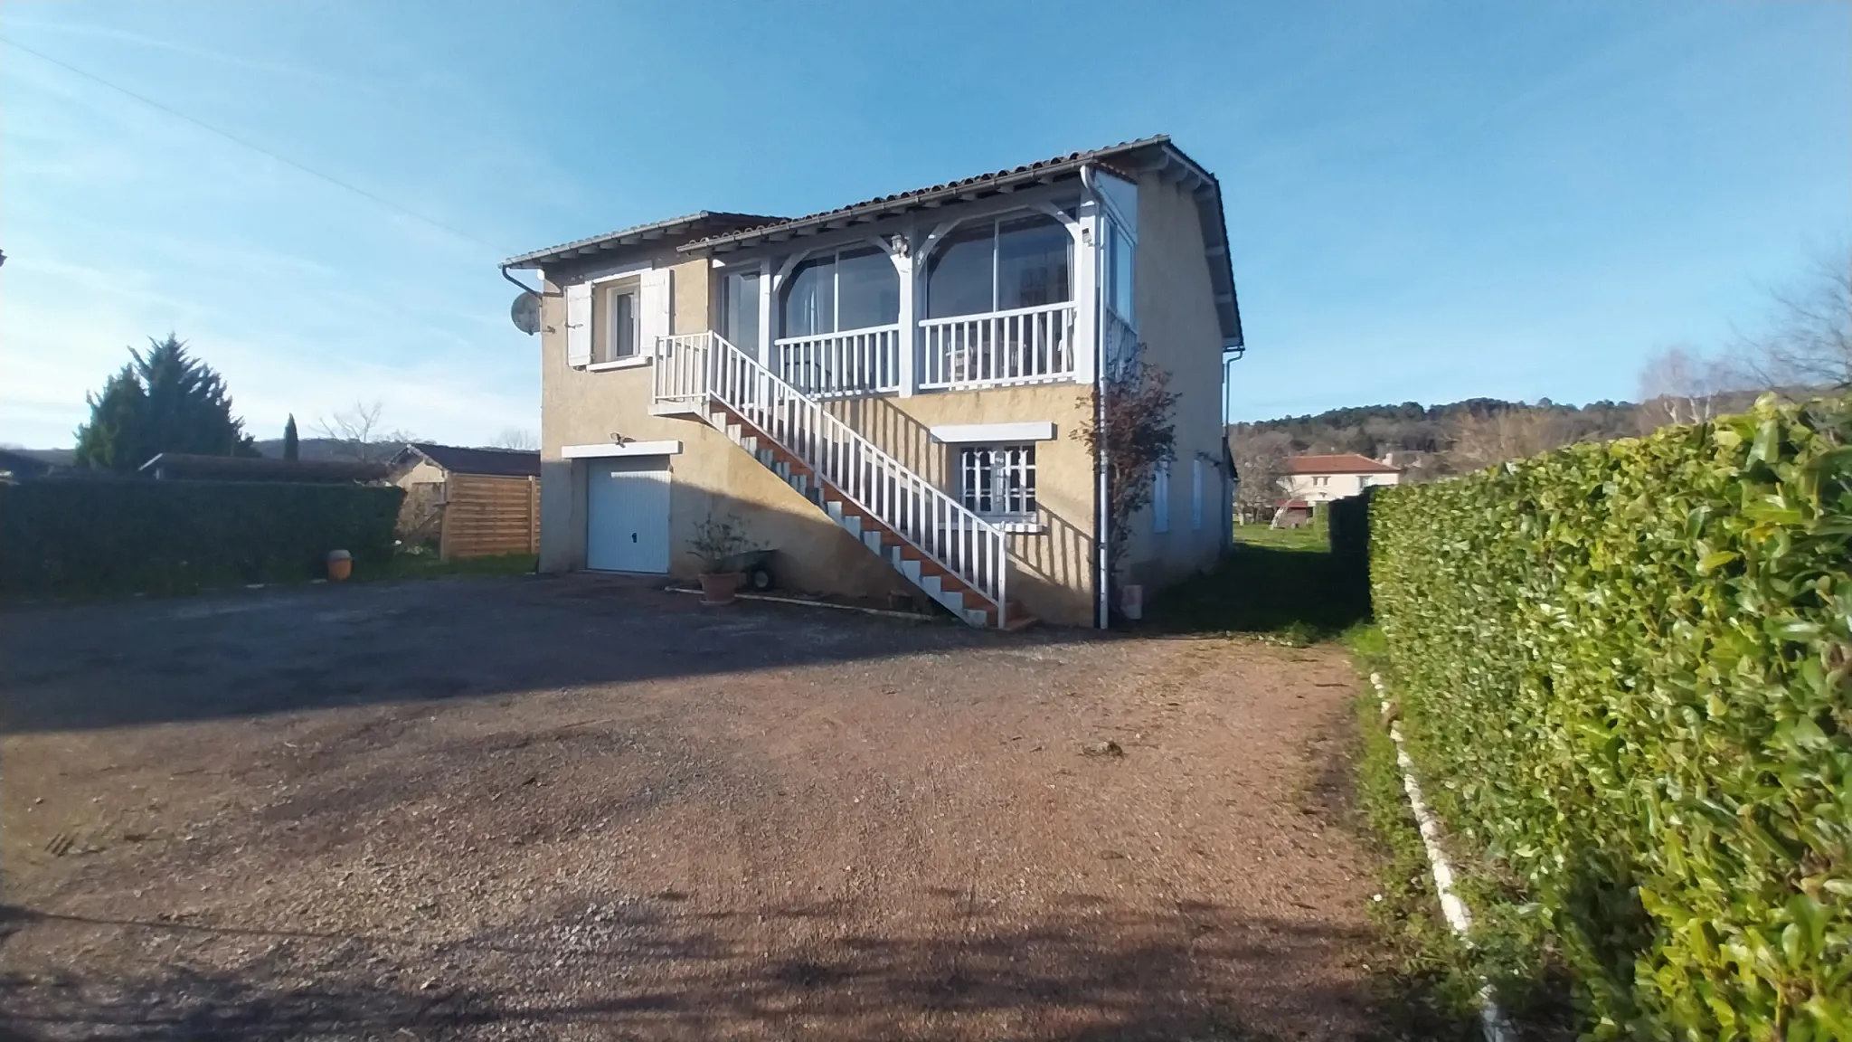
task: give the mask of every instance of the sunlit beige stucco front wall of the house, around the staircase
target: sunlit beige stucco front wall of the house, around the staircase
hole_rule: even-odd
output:
[[[669,252],[661,263],[672,263]],[[707,261],[674,267],[674,332],[707,328]],[[650,415],[650,365],[582,371],[565,360],[565,300],[548,276],[541,334],[541,571],[585,564],[585,467],[563,458],[565,445],[606,443],[611,434],[637,441],[682,441],[670,471],[670,571],[693,575],[687,547],[709,515],[735,514],[752,540],[780,549],[782,584],[809,593],[883,599],[911,593],[887,562],[843,532],[815,504],[767,471],[720,432],[693,417]],[[954,491],[956,447],[933,443],[943,423],[1050,421],[1056,438],[1035,451],[1037,501],[1045,532],[1013,534],[1009,597],[1050,623],[1093,621],[1093,462],[1072,432],[1089,408],[1085,388],[1054,384],[950,391],[911,399],[833,402],[832,410],[902,464]]]

